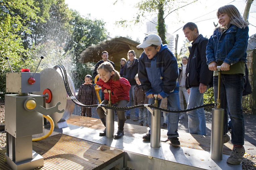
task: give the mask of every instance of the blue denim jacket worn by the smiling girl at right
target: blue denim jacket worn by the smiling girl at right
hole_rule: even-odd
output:
[[[246,62],[249,28],[238,28],[235,25],[223,33],[215,29],[206,46],[207,64],[221,60],[229,65],[238,61]]]

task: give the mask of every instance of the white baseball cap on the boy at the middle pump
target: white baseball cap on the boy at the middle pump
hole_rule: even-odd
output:
[[[147,48],[151,45],[157,45],[157,46],[161,46],[162,44],[162,40],[159,37],[159,35],[157,34],[149,34],[147,35],[144,40],[143,43],[141,43],[140,45],[137,46],[137,48]]]

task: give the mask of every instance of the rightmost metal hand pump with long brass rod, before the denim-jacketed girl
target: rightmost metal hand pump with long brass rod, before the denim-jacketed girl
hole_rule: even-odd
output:
[[[221,109],[220,104],[220,81],[221,81],[221,69],[218,69],[218,99],[216,108],[212,109],[211,118],[211,148],[210,158],[213,160],[222,160],[223,153],[223,130],[224,130],[224,109]]]

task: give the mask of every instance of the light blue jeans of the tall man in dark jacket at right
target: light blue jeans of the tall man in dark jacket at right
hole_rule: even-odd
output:
[[[199,86],[191,87],[188,98],[187,109],[203,105],[203,93],[200,93]],[[208,87],[206,88],[206,91]],[[199,108],[187,112],[188,130],[191,134],[206,135],[206,123],[204,109]]]

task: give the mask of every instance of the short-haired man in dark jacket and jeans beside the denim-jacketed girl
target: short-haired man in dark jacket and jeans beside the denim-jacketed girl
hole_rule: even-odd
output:
[[[206,45],[208,39],[199,35],[195,23],[188,22],[183,27],[185,37],[192,46],[189,49],[189,58],[186,68],[186,89],[189,94],[187,109],[203,105],[203,93],[212,83],[213,72],[208,69],[206,63]],[[206,135],[204,109],[196,109],[187,112],[189,133]]]

